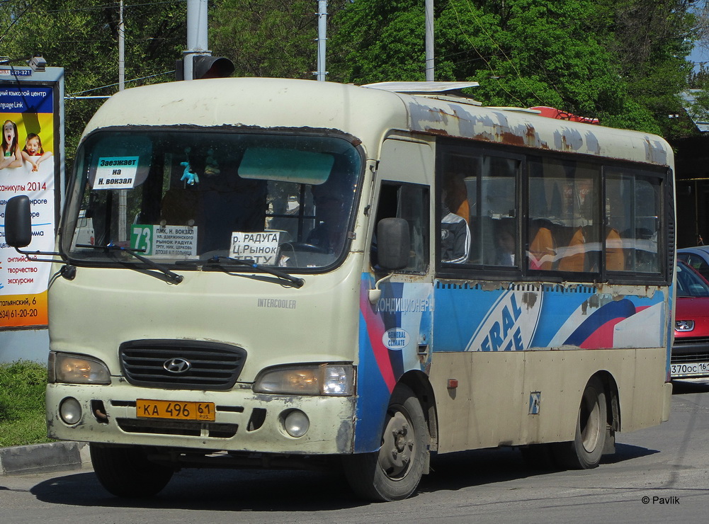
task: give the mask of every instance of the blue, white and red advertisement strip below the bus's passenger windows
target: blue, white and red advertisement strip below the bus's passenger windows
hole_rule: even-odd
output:
[[[484,289],[437,283],[434,351],[661,347],[660,292],[613,297],[591,286],[530,284]]]

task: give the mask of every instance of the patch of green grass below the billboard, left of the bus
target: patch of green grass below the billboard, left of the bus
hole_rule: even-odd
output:
[[[47,368],[37,362],[0,364],[0,447],[48,442]]]

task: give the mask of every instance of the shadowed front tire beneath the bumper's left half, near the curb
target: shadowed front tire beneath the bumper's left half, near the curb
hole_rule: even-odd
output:
[[[172,468],[150,462],[140,447],[89,444],[89,450],[101,486],[117,497],[153,496],[172,478]]]

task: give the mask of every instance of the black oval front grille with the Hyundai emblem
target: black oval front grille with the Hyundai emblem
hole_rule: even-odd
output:
[[[130,384],[167,389],[231,389],[246,359],[241,347],[195,340],[131,340],[118,352]]]

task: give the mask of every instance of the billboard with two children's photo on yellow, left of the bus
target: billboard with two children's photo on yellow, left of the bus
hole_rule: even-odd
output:
[[[47,324],[50,264],[28,260],[5,243],[4,211],[13,196],[29,196],[33,240],[28,250],[54,250],[57,105],[55,85],[0,74],[0,330]]]

